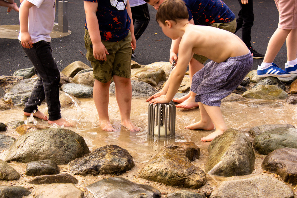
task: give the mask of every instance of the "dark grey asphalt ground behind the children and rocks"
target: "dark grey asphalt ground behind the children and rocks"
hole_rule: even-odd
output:
[[[20,5],[18,0],[15,1]],[[238,0],[224,1],[237,17],[240,9]],[[259,53],[265,54],[268,41],[278,25],[278,12],[274,1],[254,0],[254,26],[252,27],[252,46]],[[58,1],[56,3],[58,5]],[[56,7],[56,22],[58,22],[58,9]],[[139,64],[151,64],[158,61],[169,60],[169,49],[171,39],[166,37],[158,23],[155,20],[156,10],[149,5],[149,12],[151,20],[144,34],[137,40],[136,43],[136,58],[134,61]],[[68,64],[74,61],[82,61],[90,66],[86,59],[86,49],[84,46],[84,24],[85,13],[83,9],[82,0],[68,1],[68,30],[72,33],[70,35],[52,38],[51,46],[53,49],[53,57],[55,58],[60,71],[62,71]],[[19,15],[15,11],[7,13],[6,7],[0,7],[0,26],[3,25],[17,25],[19,24]],[[241,31],[236,35],[241,38]],[[286,56],[286,45],[284,44],[280,52],[276,56],[275,63],[284,69]],[[257,65],[262,63],[262,59],[254,59],[252,70],[257,69]],[[19,41],[17,39],[0,38],[0,75],[12,75],[15,70],[21,68],[32,67],[30,60],[22,51]]]

